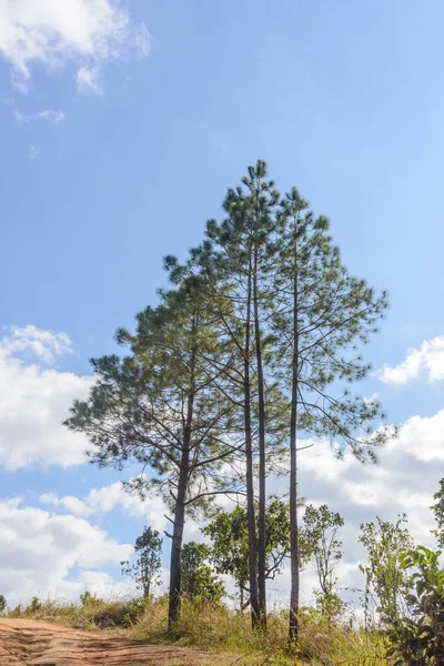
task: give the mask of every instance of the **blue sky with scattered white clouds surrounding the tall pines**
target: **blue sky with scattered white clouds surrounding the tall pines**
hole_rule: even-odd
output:
[[[327,480],[307,462],[319,487],[306,482],[304,494],[323,501],[327,481],[329,501],[349,506],[350,568],[360,507],[402,509],[377,493],[384,470],[397,495],[424,508],[417,521],[428,519],[412,472],[424,464],[428,496],[444,475],[443,20],[434,0],[0,0],[0,389],[20,414],[0,408],[0,506],[13,524],[41,519],[57,545],[48,557],[64,563],[50,579],[24,563],[34,573],[19,588],[8,583],[7,596],[114,586],[104,578],[115,574],[111,557],[88,559],[79,536],[72,563],[51,521],[64,516],[78,535],[83,521],[120,554],[148,509],[125,506],[112,486],[111,508],[90,498],[69,513],[60,498],[84,501],[117,476],[79,466],[81,443],[60,421],[88,387],[89,357],[112,350],[115,329],[155,300],[162,256],[199,243],[258,158],[281,190],[296,185],[331,219],[351,271],[392,302],[362,391],[379,393],[402,425],[396,455],[384,454],[380,471],[334,466]],[[61,332],[71,341],[62,349]],[[411,347],[422,351],[407,356]],[[380,369],[406,359],[382,381]],[[363,504],[356,484],[373,500]],[[0,585],[10,559],[0,555]]]

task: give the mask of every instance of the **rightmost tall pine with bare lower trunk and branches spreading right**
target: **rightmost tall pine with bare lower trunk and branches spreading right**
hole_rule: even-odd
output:
[[[293,189],[281,203],[274,314],[276,374],[291,405],[290,637],[297,639],[300,547],[297,534],[297,433],[329,438],[335,454],[351,451],[374,461],[387,431],[376,400],[353,396],[343,384],[370,372],[360,346],[367,343],[387,306],[365,281],[351,276],[329,235],[326,218],[314,218]]]

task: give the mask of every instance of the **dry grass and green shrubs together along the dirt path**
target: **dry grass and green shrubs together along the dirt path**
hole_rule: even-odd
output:
[[[433,535],[441,544],[444,482],[434,500],[431,509],[436,528]],[[284,505],[273,502],[270,515],[276,516]],[[231,513],[218,512],[202,528],[210,537],[209,543],[189,542],[183,547],[181,614],[173,625],[169,620],[169,595],[155,596],[153,592],[159,583],[161,539],[159,533],[147,529],[143,538],[137,541],[135,563],[122,563],[122,573],[128,574],[130,568],[139,596],[107,601],[87,591],[78,603],[33,597],[27,606],[16,608],[8,608],[7,601],[0,596],[0,613],[11,618],[30,617],[83,629],[120,632],[135,640],[206,649],[223,655],[226,664],[442,666],[444,571],[440,565],[441,551],[415,545],[406,516],[400,516],[396,523],[376,519],[363,524],[359,535],[367,553],[360,566],[363,587],[346,591],[335,575],[342,557],[343,519],[325,505],[317,509],[307,506],[303,523],[304,562],[317,573],[319,586],[313,591],[315,603],[300,608],[297,645],[289,642],[286,609],[274,608],[269,613],[266,630],[251,626],[242,574],[248,568],[248,529],[245,516],[239,508]],[[273,535],[272,543],[281,562],[282,553],[283,559],[290,547],[289,527],[282,516],[273,525],[271,522],[269,534]],[[236,594],[230,599],[219,577],[226,566],[231,567],[238,585]],[[353,607],[342,598],[351,592],[355,595]]]

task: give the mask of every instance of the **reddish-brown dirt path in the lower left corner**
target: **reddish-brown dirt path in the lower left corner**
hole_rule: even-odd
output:
[[[0,619],[0,666],[194,666],[208,653],[147,645],[49,622]]]

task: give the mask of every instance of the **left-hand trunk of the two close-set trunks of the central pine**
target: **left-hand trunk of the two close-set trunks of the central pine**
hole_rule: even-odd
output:
[[[246,315],[245,315],[245,349],[244,349],[244,428],[245,428],[245,482],[246,482],[246,513],[249,523],[249,574],[251,623],[258,626],[260,617],[258,597],[258,546],[256,521],[254,515],[254,477],[253,477],[253,437],[251,430],[251,382],[250,382],[250,345],[251,345],[251,259],[248,275]]]

